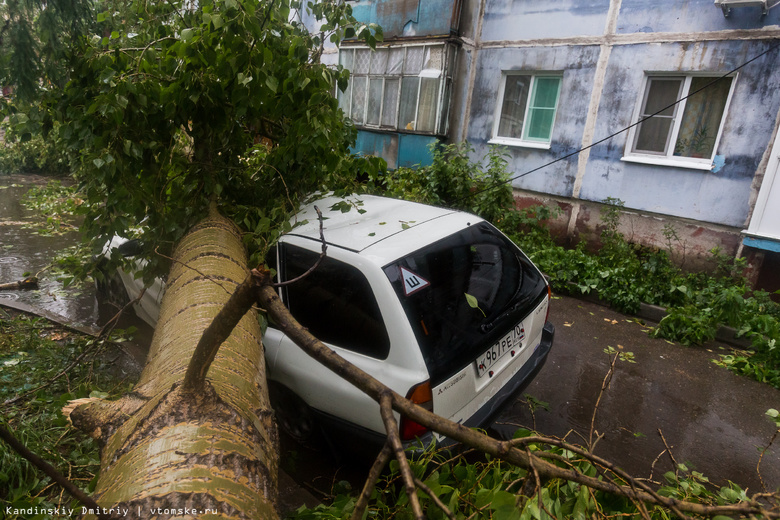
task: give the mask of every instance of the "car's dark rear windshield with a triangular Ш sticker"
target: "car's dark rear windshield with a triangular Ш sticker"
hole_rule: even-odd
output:
[[[473,362],[547,294],[541,273],[486,222],[385,266],[435,385]]]

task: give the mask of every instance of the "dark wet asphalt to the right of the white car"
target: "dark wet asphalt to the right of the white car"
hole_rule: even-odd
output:
[[[780,439],[762,457],[776,431],[765,413],[780,409],[780,390],[712,362],[730,347],[655,339],[648,334],[653,323],[565,296],[554,299],[550,321],[556,336],[547,363],[497,415],[494,433],[525,426],[586,444],[611,346],[632,352],[636,362],[617,362],[601,398],[596,455],[655,481],[684,463],[716,485],[730,480],[753,493],[780,488]],[[546,409],[531,413],[527,396]]]

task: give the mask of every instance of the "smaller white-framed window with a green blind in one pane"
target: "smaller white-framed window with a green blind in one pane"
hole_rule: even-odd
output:
[[[490,142],[549,148],[560,92],[560,75],[505,73]]]

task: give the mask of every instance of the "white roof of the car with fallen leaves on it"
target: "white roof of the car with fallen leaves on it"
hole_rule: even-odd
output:
[[[294,219],[305,223],[287,236],[320,242],[314,206],[322,212],[326,243],[375,257],[380,264],[482,221],[462,211],[376,195],[328,196],[305,205]],[[342,212],[342,207],[349,211]]]

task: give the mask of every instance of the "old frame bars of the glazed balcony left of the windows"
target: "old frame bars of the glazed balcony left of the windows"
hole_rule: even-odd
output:
[[[442,48],[442,70],[438,69],[423,69],[419,74],[408,74],[404,72],[406,60],[407,60],[407,54],[408,50],[412,47],[423,47],[423,48],[431,48],[431,47],[441,47]],[[445,136],[447,135],[448,127],[449,127],[449,99],[450,94],[452,91],[452,76],[453,76],[453,68],[455,64],[455,53],[457,52],[457,48],[453,46],[452,44],[449,44],[447,42],[431,42],[431,43],[406,43],[403,45],[389,45],[389,46],[383,46],[381,49],[385,50],[386,52],[391,52],[392,49],[403,49],[404,57],[403,57],[403,65],[401,67],[401,73],[399,75],[380,75],[380,74],[373,74],[370,69],[368,73],[354,73],[353,71],[350,71],[350,81],[347,89],[344,92],[337,92],[338,96],[347,96],[347,99],[343,102],[342,108],[344,109],[347,117],[350,117],[352,114],[352,102],[353,102],[353,96],[354,96],[354,79],[355,78],[365,78],[365,93],[364,93],[364,105],[363,105],[363,114],[362,114],[362,122],[358,123],[355,122],[355,126],[358,128],[366,128],[370,130],[384,130],[384,131],[401,131],[401,132],[409,132],[414,134],[425,134],[425,135],[439,135],[439,136]],[[360,50],[366,50],[370,49],[369,47],[364,46],[345,46],[342,47],[339,52],[345,53],[345,52],[352,52],[353,53],[353,68],[354,68],[354,59],[356,56],[356,52]],[[423,52],[425,52],[423,50]],[[339,63],[341,63],[341,58],[339,58]],[[432,131],[424,131],[424,130],[418,130],[416,126],[414,128],[407,128],[406,126],[402,125],[401,121],[399,120],[399,117],[401,116],[401,93],[403,91],[403,81],[404,78],[412,78],[416,77],[418,78],[417,82],[417,94],[416,94],[416,105],[414,108],[415,113],[415,119],[414,122],[416,123],[419,119],[419,111],[420,111],[420,94],[422,90],[422,83],[423,79],[425,78],[433,78],[438,80],[438,93],[437,93],[437,99],[436,99],[436,113],[434,115],[434,129]],[[395,93],[395,124],[393,125],[387,125],[384,124],[384,116],[385,116],[385,83],[388,79],[398,80],[398,87],[397,92]],[[369,106],[369,94],[370,94],[370,87],[372,81],[381,80],[382,82],[382,95],[380,98],[380,105],[379,105],[379,123],[378,124],[369,124],[367,122],[368,119],[368,106]],[[445,102],[447,106],[445,105]]]

